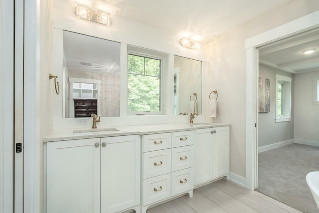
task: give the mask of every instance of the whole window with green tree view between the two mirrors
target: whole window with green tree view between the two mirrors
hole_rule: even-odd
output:
[[[128,54],[128,113],[161,113],[161,59]]]

